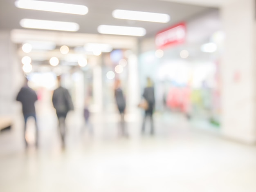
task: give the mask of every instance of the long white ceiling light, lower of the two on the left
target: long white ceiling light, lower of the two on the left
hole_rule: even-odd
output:
[[[20,26],[31,29],[48,29],[57,31],[78,31],[79,25],[75,22],[37,20],[37,19],[22,19]]]

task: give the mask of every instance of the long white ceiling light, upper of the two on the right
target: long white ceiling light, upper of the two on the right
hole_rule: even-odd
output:
[[[150,13],[141,11],[128,11],[116,9],[112,12],[112,16],[117,19],[128,19],[138,21],[162,22],[170,21],[170,16],[163,13]]]

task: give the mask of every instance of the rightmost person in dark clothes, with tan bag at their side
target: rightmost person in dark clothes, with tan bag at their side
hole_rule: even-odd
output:
[[[151,124],[151,129],[150,129],[150,134],[154,134],[154,121],[153,121],[153,112],[155,108],[155,92],[154,92],[154,87],[153,87],[153,82],[150,78],[147,78],[147,87],[144,88],[144,92],[142,94],[143,98],[147,102],[147,109],[145,109],[145,116],[142,124],[142,133],[145,132],[145,124],[146,124],[146,118],[150,118],[150,124]]]

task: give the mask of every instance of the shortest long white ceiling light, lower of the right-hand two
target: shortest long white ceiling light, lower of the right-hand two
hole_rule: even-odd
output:
[[[115,25],[99,25],[98,32],[102,34],[145,36],[146,29],[142,27],[124,27]]]

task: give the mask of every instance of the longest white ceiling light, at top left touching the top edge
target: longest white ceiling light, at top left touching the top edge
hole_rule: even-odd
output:
[[[77,15],[85,15],[88,13],[88,8],[84,5],[57,3],[48,1],[36,0],[17,0],[16,7],[21,9],[33,9],[40,11],[52,11],[58,13],[71,13]]]

